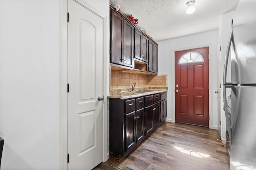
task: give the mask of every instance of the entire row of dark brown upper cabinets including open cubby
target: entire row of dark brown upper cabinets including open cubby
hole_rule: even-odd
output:
[[[158,44],[110,5],[110,65],[113,70],[157,74]]]

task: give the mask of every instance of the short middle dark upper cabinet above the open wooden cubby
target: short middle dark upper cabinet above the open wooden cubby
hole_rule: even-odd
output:
[[[134,29],[134,58],[148,62],[148,37]]]

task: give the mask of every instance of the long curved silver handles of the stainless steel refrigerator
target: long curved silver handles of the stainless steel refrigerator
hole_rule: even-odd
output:
[[[227,93],[226,93],[226,87],[225,85],[227,85],[227,67],[228,67],[228,58],[229,58],[229,52],[230,52],[230,47],[231,47],[231,43],[232,41],[234,41],[233,38],[233,27],[231,26],[231,33],[230,33],[230,37],[228,40],[228,48],[226,51],[226,56],[225,56],[225,63],[224,63],[224,73],[223,73],[223,99],[224,99],[224,110],[225,110],[225,115],[226,115],[226,122],[228,124],[228,127],[231,129],[231,125],[230,125],[230,121],[228,118],[228,107],[227,107]],[[229,84],[229,83],[228,83]]]

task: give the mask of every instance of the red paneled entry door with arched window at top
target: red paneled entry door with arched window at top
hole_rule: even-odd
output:
[[[175,121],[209,127],[209,47],[175,52]]]

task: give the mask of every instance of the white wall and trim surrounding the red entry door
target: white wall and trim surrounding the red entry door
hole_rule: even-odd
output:
[[[172,103],[173,103],[173,92],[174,92],[174,82],[173,82],[173,70],[174,63],[173,52],[177,49],[189,49],[200,46],[209,46],[209,55],[210,62],[212,65],[209,65],[210,74],[209,81],[210,90],[209,96],[212,94],[212,98],[210,98],[209,102],[212,100],[212,108],[209,107],[210,112],[212,113],[212,117],[210,117],[210,128],[217,129],[218,128],[218,113],[217,113],[217,94],[214,93],[217,90],[217,42],[218,42],[218,30],[207,31],[203,33],[188,35],[184,37],[178,37],[174,39],[168,39],[164,41],[159,41],[158,44],[158,74],[168,74],[168,105],[167,105],[167,121],[173,120],[173,115],[175,113],[172,111]],[[212,80],[211,80],[212,78]],[[211,93],[211,94],[210,94]],[[211,115],[210,115],[211,116]]]

